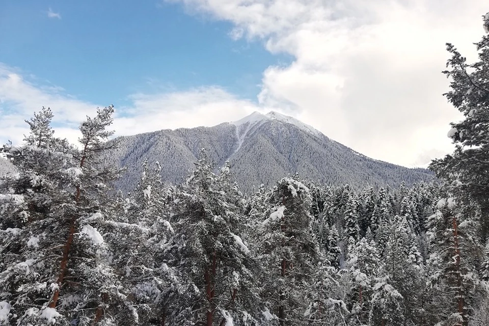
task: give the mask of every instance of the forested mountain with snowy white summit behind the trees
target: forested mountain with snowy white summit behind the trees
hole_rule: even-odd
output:
[[[433,180],[425,169],[408,169],[371,159],[326,137],[313,127],[277,112],[255,112],[235,122],[213,127],[160,130],[119,137],[108,156],[127,167],[121,188],[138,182],[145,160],[161,165],[164,181],[179,183],[194,167],[202,148],[218,166],[230,161],[236,181],[245,191],[273,185],[287,174],[323,184],[348,183],[392,187]]]

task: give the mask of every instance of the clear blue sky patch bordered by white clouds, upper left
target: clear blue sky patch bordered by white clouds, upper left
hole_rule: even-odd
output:
[[[287,57],[231,27],[155,1],[3,1],[0,61],[94,103],[202,85],[255,99],[263,70]]]

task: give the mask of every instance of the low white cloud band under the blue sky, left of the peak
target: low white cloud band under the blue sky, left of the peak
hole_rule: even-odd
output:
[[[113,128],[116,135],[129,135],[159,129],[211,126],[235,121],[257,107],[220,87],[202,87],[185,92],[167,92],[129,96],[130,105],[116,107]],[[104,103],[108,105],[110,103]],[[80,136],[78,125],[87,115],[96,113],[97,105],[78,100],[56,86],[43,86],[25,78],[18,69],[0,65],[0,144],[8,140],[20,143],[29,132],[24,122],[42,106],[53,112],[53,126],[58,137],[75,143]]]

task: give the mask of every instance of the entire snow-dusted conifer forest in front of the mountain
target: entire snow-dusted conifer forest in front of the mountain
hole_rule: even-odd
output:
[[[3,147],[17,172],[0,183],[0,324],[489,324],[489,37],[477,49],[467,64],[448,44],[465,119],[439,181],[409,188],[287,176],[243,195],[202,150],[182,184],[144,164],[123,194],[102,159],[113,107],[78,147],[43,108]]]

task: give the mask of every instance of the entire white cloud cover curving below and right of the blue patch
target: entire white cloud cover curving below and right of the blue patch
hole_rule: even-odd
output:
[[[172,2],[183,3],[189,14],[230,21],[230,37],[263,42],[294,60],[263,72],[258,104],[225,85],[128,95],[129,104],[116,107],[117,134],[210,126],[276,110],[365,155],[405,166],[451,151],[448,123],[459,116],[441,95],[448,91],[441,73],[445,42],[475,59],[472,43],[489,10],[482,0]],[[42,105],[53,109],[58,134],[75,141],[76,124],[97,105],[110,104],[78,100],[46,84],[0,65],[2,142],[20,141],[23,119]]]

